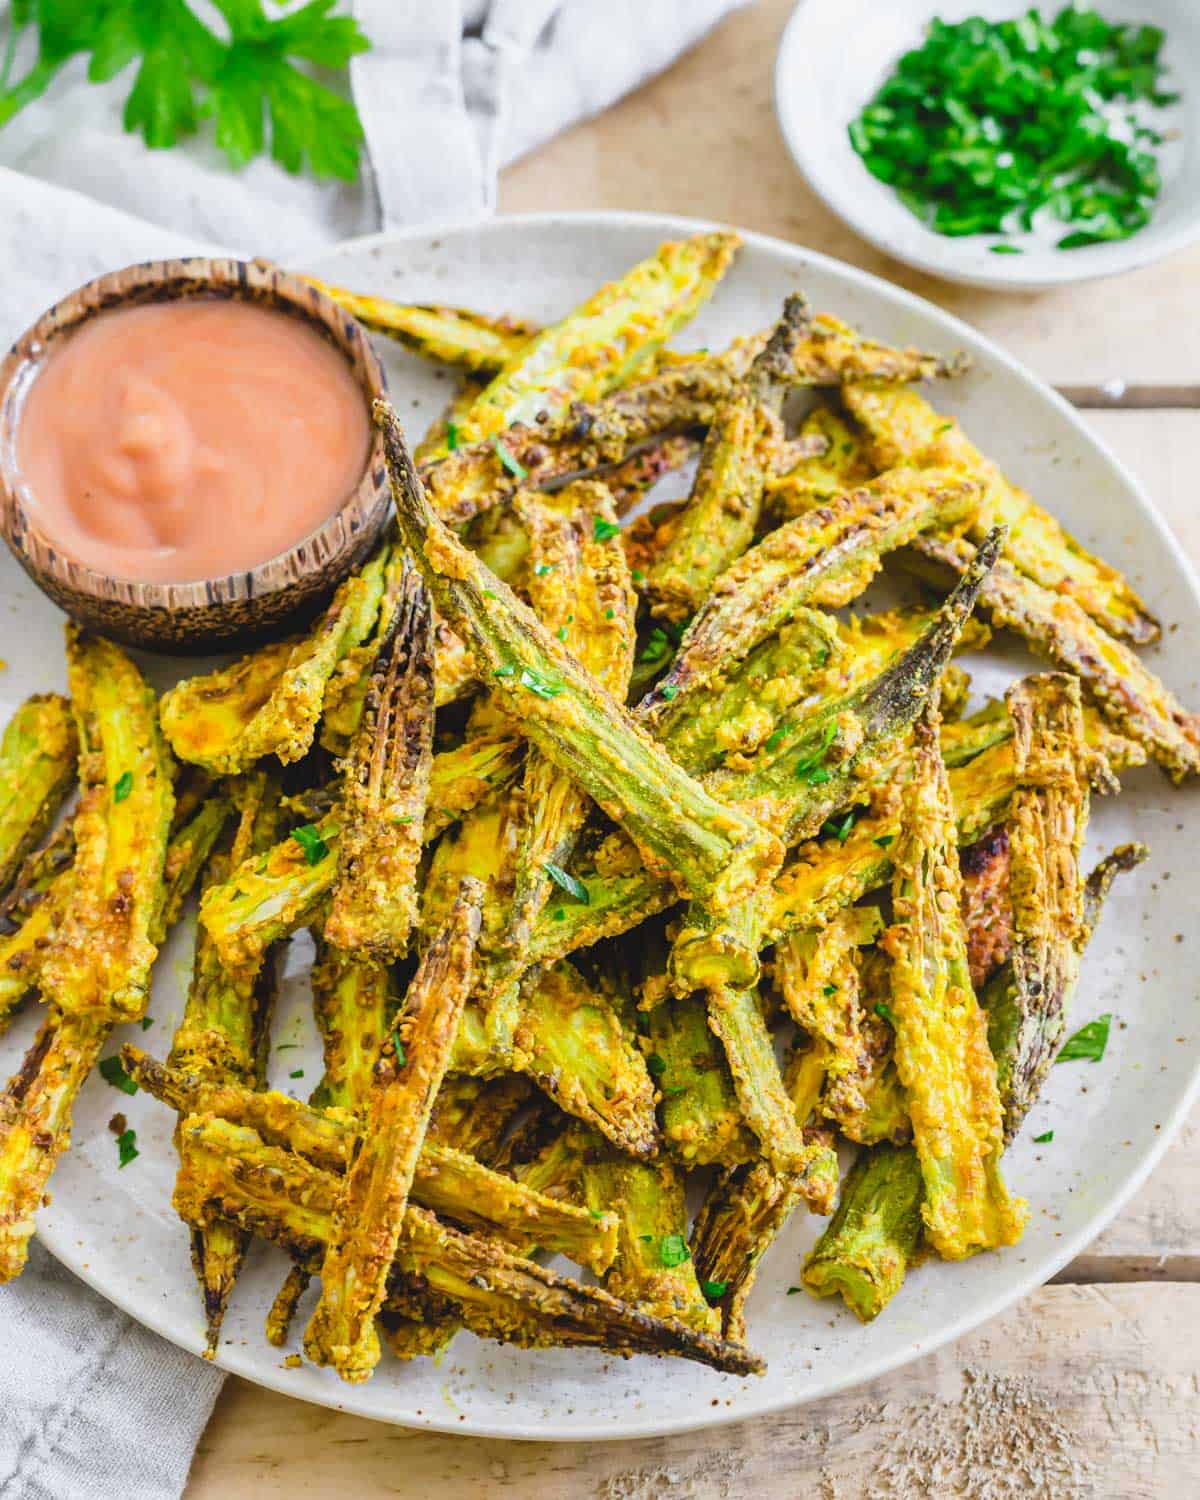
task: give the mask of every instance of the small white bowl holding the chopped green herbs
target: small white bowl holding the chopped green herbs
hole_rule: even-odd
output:
[[[934,16],[1011,20],[1030,0],[801,0],[776,60],[780,129],[808,186],[864,240],[918,270],[968,286],[1041,291],[1116,276],[1149,266],[1200,238],[1200,3],[1197,0],[1100,0],[1110,21],[1161,26],[1167,82],[1182,93],[1162,111],[1179,132],[1161,153],[1162,194],[1146,228],[1128,240],[1054,249],[1053,238],[1020,237],[1022,255],[996,255],[1000,236],[963,238],[927,230],[855,154],[846,128],[873,98],[897,58],[921,45]],[[1065,0],[1040,0],[1053,16]],[[1066,231],[1059,231],[1066,232]]]

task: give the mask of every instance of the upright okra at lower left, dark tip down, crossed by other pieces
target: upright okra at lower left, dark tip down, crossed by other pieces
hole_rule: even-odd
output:
[[[231,862],[261,850],[274,838],[279,822],[279,786],[258,771],[237,789],[238,826],[228,855],[212,860],[208,882],[224,879]],[[206,807],[214,801],[210,798]],[[201,818],[204,808],[196,813]],[[194,822],[196,820],[194,819]],[[274,964],[234,978],[220,964],[216,948],[201,928],[192,958],[192,982],[176,1029],[168,1066],[213,1083],[266,1083],[266,1047],[274,1008]],[[192,1232],[192,1266],[204,1299],[206,1356],[212,1359],[234,1282],[246,1258],[248,1236],[232,1224],[214,1222]]]

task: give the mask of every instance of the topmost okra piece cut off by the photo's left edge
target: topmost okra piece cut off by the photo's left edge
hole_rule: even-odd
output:
[[[78,740],[58,693],[26,699],[0,738],[0,896],[54,822],[75,782]]]

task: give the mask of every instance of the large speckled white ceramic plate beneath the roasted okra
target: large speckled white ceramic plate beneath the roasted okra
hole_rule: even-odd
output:
[[[500,219],[472,228],[378,237],[314,261],[308,270],[384,296],[460,302],[495,312],[554,318],[598,282],[646,255],[668,236],[699,225],[632,214]],[[1172,686],[1200,700],[1194,642],[1200,600],[1190,570],[1136,482],[1050,390],[1000,350],[927,303],[820,255],[747,236],[735,270],[688,330],[688,345],[720,345],[771,322],[784,292],[802,286],[828,308],[892,342],[966,348],[974,372],[936,399],[1050,504],[1089,546],[1101,549],[1143,590],[1168,622],[1155,652]],[[30,308],[30,315],[38,309]],[[438,411],[448,384],[402,354],[388,356],[392,393],[414,430]],[[62,616],[0,558],[4,602],[0,710],[24,694],[62,686]],[[1020,668],[981,668],[994,688]],[[171,663],[152,663],[159,682]],[[1196,790],[1172,790],[1155,772],[1128,778],[1119,801],[1096,807],[1089,861],[1130,837],[1152,861],[1125,879],[1110,903],[1084,966],[1074,1017],[1112,1011],[1112,1041],[1100,1065],[1056,1068],[1046,1098],[1005,1162],[1011,1184],[1034,1204],[1023,1244],[964,1264],[915,1270],[902,1296],[861,1328],[840,1304],[788,1296],[819,1224],[798,1215],[764,1260],[750,1306],[750,1338],[770,1362],[760,1380],[740,1382],[680,1360],[621,1362],[596,1353],[524,1353],[460,1335],[438,1365],[384,1362],[364,1386],[340,1384],[310,1365],[288,1370],[262,1338],[262,1316],[284,1270],[262,1250],[238,1286],[220,1346],[224,1368],[290,1395],[411,1426],[525,1438],[604,1438],[675,1432],[732,1422],[867,1380],[992,1317],[1052,1276],[1116,1214],[1161,1155],[1197,1082],[1196,968],[1174,934],[1194,924],[1186,874],[1194,858]],[[1172,879],[1167,879],[1167,873]],[[154,1024],[134,1041],[158,1054],[168,1046],[188,980],[189,940],[177,936],[162,958],[152,1005]],[[308,1092],[320,1052],[308,1014],[302,940],[274,1029],[284,1044],[272,1082]],[[15,1065],[33,1026],[22,1017],[0,1042],[0,1066]],[[124,1038],[120,1038],[124,1040]],[[291,1080],[296,1068],[303,1080]],[[108,1132],[122,1110],[141,1155],[124,1170]],[[39,1221],[42,1240],[112,1302],[159,1334],[198,1350],[200,1305],[184,1232],[171,1212],[174,1119],[146,1095],[126,1098],[99,1077],[82,1090],[75,1146],[52,1182]],[[1048,1148],[1032,1137],[1054,1130]],[[297,1332],[303,1328],[303,1318]],[[294,1346],[296,1347],[296,1346]]]

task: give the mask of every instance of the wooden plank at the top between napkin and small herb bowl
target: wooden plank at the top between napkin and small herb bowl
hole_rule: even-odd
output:
[[[1042,376],[1102,387],[1200,390],[1192,306],[1200,248],[1160,266],[1050,292],[987,292],[912,272],[860,240],[812,194],[776,124],[774,62],[794,0],[730,16],[660,78],[501,180],[502,213],[640,208],[718,219],[861,266],[966,318]]]

